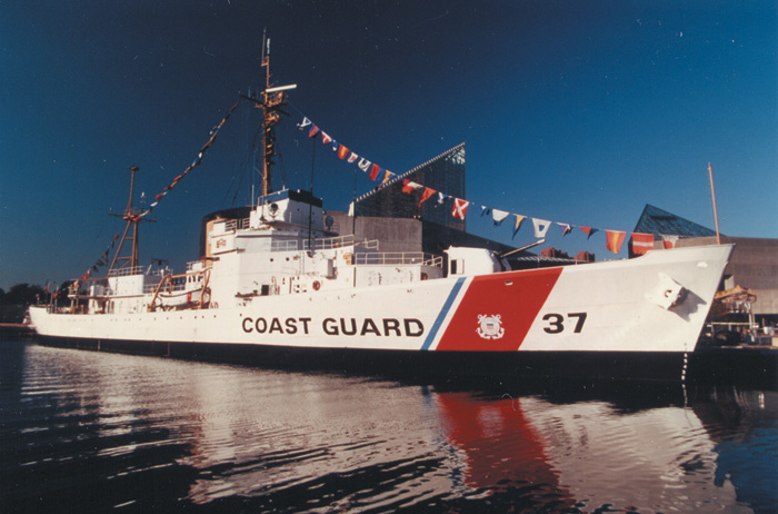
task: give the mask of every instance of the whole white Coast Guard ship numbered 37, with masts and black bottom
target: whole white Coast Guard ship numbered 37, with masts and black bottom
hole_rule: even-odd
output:
[[[140,266],[148,210],[132,204],[131,168],[107,277],[73,283],[70,305],[31,306],[40,340],[421,375],[686,378],[731,245],[536,269],[480,247],[382,251],[339,235],[311,191],[272,190],[275,127],[293,86],[271,85],[268,56],[262,66],[265,89],[243,97],[265,125],[262,190],[245,216],[210,219],[205,256],[181,274]]]

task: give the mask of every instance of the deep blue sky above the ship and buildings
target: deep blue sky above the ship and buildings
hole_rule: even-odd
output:
[[[721,231],[778,237],[775,1],[0,1],[0,287],[86,271],[128,167],[153,197],[262,80],[263,28],[277,83],[298,83],[277,188],[308,185],[305,115],[398,174],[467,141],[475,204],[627,231],[646,204],[712,227],[710,161]],[[200,217],[249,201],[256,122],[242,105],[160,202],[143,263],[181,270]],[[345,210],[352,168],[323,148],[315,192]],[[510,241],[478,214],[469,231]]]

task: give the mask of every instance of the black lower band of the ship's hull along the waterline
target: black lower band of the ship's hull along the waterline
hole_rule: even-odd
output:
[[[285,370],[319,370],[412,378],[506,377],[575,380],[682,382],[688,356],[659,352],[402,352],[288,346],[97,340],[38,337],[60,347],[233,363]]]

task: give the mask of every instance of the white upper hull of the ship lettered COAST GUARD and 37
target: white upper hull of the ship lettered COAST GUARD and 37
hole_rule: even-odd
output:
[[[255,298],[133,314],[30,309],[40,336],[420,353],[684,354],[695,349],[731,246],[629,260]],[[678,286],[675,305],[661,305]],[[169,350],[169,349],[168,349]]]

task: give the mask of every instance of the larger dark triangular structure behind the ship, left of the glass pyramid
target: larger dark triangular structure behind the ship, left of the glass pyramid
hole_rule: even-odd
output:
[[[415,218],[457,230],[466,229],[463,219],[451,216],[452,199],[439,204],[435,195],[419,206],[423,188],[403,192],[406,179],[449,196],[466,198],[463,142],[360,196],[355,202],[355,211],[357,216]]]

